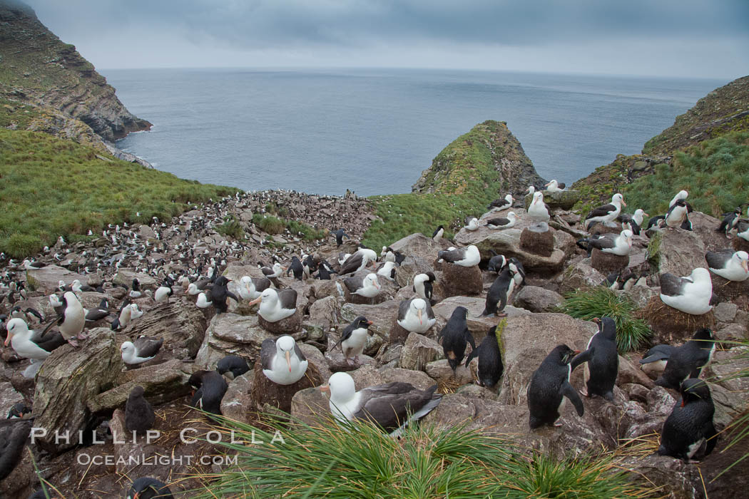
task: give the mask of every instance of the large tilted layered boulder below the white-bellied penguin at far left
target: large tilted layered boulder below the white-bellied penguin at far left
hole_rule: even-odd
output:
[[[75,447],[91,415],[88,401],[111,387],[122,367],[119,346],[107,328],[88,331],[88,340],[78,349],[55,349],[37,374],[34,426],[46,430],[37,442],[53,453]],[[70,439],[55,442],[55,432],[70,432]]]

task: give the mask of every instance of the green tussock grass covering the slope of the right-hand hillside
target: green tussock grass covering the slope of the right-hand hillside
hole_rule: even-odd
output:
[[[631,206],[659,215],[682,189],[694,209],[715,217],[746,203],[749,132],[731,132],[677,152],[670,167],[656,165],[655,174],[635,180],[623,194]]]

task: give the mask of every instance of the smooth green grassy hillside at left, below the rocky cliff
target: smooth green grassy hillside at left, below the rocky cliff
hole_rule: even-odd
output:
[[[168,219],[237,189],[182,180],[38,132],[0,129],[0,251],[24,257],[58,236]],[[136,213],[140,215],[136,215]]]

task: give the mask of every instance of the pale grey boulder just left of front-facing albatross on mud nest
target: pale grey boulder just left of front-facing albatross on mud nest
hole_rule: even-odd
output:
[[[256,316],[220,313],[211,319],[205,331],[195,364],[202,369],[213,370],[226,355],[239,355],[255,361],[266,338],[276,339],[276,336],[261,328]]]

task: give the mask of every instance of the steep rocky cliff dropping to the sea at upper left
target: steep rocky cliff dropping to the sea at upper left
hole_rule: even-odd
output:
[[[55,135],[64,138],[71,138],[64,129],[76,128],[61,123],[64,117],[82,121],[106,141],[151,127],[127,111],[115,89],[75,46],[63,43],[31,7],[17,0],[0,0],[0,98],[4,120],[10,122],[6,126],[26,128],[18,122],[28,120],[13,116],[23,107],[19,114],[34,114],[36,129],[63,129]],[[38,123],[45,119],[46,126]]]

